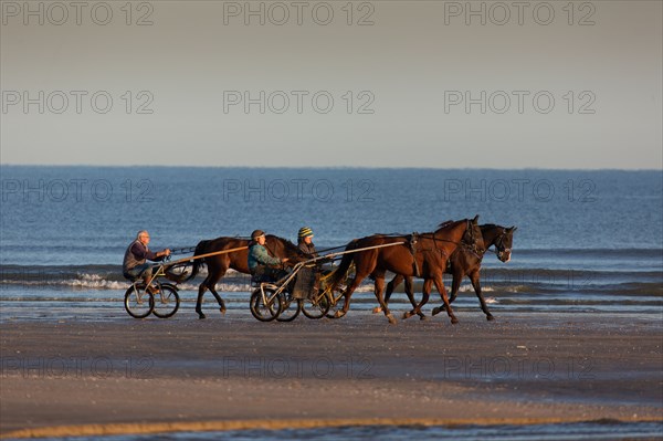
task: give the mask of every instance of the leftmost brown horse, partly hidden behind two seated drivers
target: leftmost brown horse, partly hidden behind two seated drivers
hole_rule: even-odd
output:
[[[276,235],[267,234],[266,235],[265,248],[267,251],[275,258],[287,258],[291,260],[290,263],[296,263],[298,261],[305,260],[306,256],[299,251],[299,249],[287,239],[282,239]],[[196,246],[196,252],[193,255],[201,255],[207,253],[213,253],[217,251],[223,250],[232,250],[234,248],[249,246],[251,241],[249,239],[239,239],[239,238],[217,238],[212,240],[200,241]],[[249,271],[249,249],[233,251],[224,254],[211,255],[203,259],[198,259],[193,261],[193,269],[190,275],[186,277],[179,277],[173,274],[169,275],[169,279],[177,280],[177,282],[185,282],[196,277],[200,265],[206,263],[208,266],[208,276],[202,281],[200,287],[198,288],[198,301],[196,302],[196,312],[198,313],[198,318],[204,318],[206,315],[202,313],[202,296],[207,290],[214,295],[217,302],[219,303],[221,314],[225,313],[225,304],[223,300],[217,292],[215,285],[219,283],[221,277],[225,275],[228,269],[233,269],[239,271],[240,273],[250,274]]]

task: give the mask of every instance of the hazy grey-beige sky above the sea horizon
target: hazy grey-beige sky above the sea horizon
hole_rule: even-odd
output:
[[[663,169],[661,1],[1,1],[0,164]]]

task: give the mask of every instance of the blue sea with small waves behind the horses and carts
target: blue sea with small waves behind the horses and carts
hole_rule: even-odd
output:
[[[494,313],[663,316],[661,171],[2,166],[0,175],[2,321],[124,318],[119,265],[140,229],[161,249],[257,228],[295,240],[309,225],[320,249],[475,214],[518,227],[511,262],[484,259]],[[182,286],[185,308],[200,281]],[[250,317],[246,283],[221,287]],[[375,306],[369,288],[352,309]],[[471,286],[461,290],[457,309],[481,314]]]

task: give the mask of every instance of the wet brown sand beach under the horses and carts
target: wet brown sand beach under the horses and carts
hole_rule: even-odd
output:
[[[662,420],[660,316],[6,322],[0,434]]]

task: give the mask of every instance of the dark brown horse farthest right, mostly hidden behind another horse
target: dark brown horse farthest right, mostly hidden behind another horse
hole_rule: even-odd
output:
[[[486,319],[492,321],[494,319],[493,314],[491,314],[488,311],[486,302],[484,301],[481,292],[481,262],[485,252],[493,245],[495,246],[495,254],[497,254],[497,259],[505,263],[508,262],[511,260],[514,231],[516,231],[517,227],[506,228],[487,223],[485,225],[481,225],[480,228],[485,249],[473,249],[471,244],[467,244],[463,241],[462,246],[459,246],[453,254],[451,254],[451,258],[449,258],[449,265],[444,272],[453,275],[453,282],[451,284],[451,297],[449,298],[449,303],[453,303],[453,301],[456,298],[459,288],[461,287],[461,282],[466,275],[472,282],[472,286],[474,287],[474,292],[476,293],[478,303],[481,304],[481,309],[486,315]],[[389,303],[391,293],[393,293],[393,290],[403,281],[403,279],[406,280],[406,293],[408,294],[408,298],[410,298],[412,306],[415,306],[412,290],[412,277],[404,277],[401,274],[397,274],[391,282],[387,284],[385,304]],[[427,281],[425,283],[430,284],[431,282]],[[430,292],[430,286],[428,290]],[[433,315],[441,313],[443,309],[443,306],[433,308]],[[376,307],[373,313],[379,313],[380,311],[380,307]],[[408,317],[410,317],[410,315],[406,314],[406,318]],[[423,314],[420,314],[420,317],[422,319],[425,318]]]

